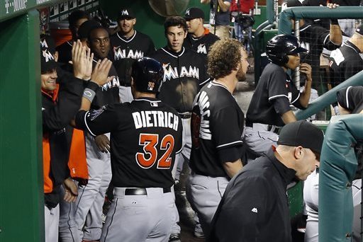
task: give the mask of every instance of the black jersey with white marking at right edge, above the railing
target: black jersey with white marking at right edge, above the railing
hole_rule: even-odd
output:
[[[330,80],[333,87],[363,70],[359,49],[349,40],[330,54]]]

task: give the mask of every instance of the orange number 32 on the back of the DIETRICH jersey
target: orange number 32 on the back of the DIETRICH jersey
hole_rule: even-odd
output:
[[[172,151],[174,149],[174,137],[167,134],[162,137],[159,144],[159,134],[140,134],[139,145],[143,146],[143,153],[138,152],[135,155],[138,165],[142,168],[151,168],[157,161],[158,169],[169,169],[172,165]],[[158,152],[162,156],[157,160]]]

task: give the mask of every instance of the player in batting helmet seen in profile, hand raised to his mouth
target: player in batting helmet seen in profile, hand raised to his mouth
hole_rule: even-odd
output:
[[[300,109],[308,106],[311,67],[301,64],[299,55],[306,51],[293,35],[277,35],[267,42],[266,53],[272,63],[262,71],[246,115],[245,142],[254,156],[262,156],[272,144],[276,145],[277,127],[296,121],[290,105]],[[286,73],[298,66],[301,73],[306,74],[302,93]]]

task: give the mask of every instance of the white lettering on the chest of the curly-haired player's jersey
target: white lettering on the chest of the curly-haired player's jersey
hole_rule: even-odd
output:
[[[211,110],[209,110],[209,98],[207,96],[207,93],[205,91],[202,91],[201,93],[198,93],[198,96],[196,96],[196,99],[198,100],[197,103],[194,103],[194,105],[199,106],[199,110],[201,113],[201,124],[199,126],[199,137],[201,139],[212,139],[212,133],[211,128],[209,124],[209,120],[207,117],[211,116]]]

